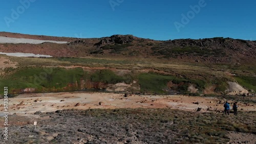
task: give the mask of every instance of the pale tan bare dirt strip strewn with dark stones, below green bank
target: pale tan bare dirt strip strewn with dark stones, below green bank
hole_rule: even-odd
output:
[[[2,100],[3,101],[3,100]],[[221,101],[221,104],[220,104]],[[101,103],[99,105],[99,103]],[[36,111],[50,112],[62,109],[95,109],[95,108],[172,108],[196,111],[223,110],[224,100],[218,98],[189,97],[184,95],[134,95],[95,92],[60,92],[20,94],[9,98],[9,113],[33,114]],[[233,103],[229,101],[230,107]],[[253,104],[238,102],[239,110],[256,111]],[[3,107],[0,107],[3,111]]]

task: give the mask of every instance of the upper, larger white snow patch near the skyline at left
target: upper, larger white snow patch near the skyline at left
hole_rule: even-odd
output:
[[[43,43],[43,42],[68,43],[67,41],[36,40],[36,39],[10,38],[10,37],[0,36],[0,43],[31,43],[31,44],[40,44],[40,43]]]

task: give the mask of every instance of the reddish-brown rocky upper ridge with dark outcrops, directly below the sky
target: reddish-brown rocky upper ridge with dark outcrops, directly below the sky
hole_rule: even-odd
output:
[[[66,38],[0,32],[0,36],[70,41],[67,44],[0,44],[6,53],[34,53],[54,57],[160,58],[178,62],[248,63],[256,60],[256,41],[232,38],[177,39],[157,41],[133,35],[102,38]],[[122,45],[122,46],[120,46]],[[190,47],[189,50],[180,48]]]

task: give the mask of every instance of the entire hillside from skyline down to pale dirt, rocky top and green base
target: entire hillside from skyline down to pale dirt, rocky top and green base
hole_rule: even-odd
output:
[[[2,56],[0,82],[8,81],[12,93],[27,89],[33,90],[30,92],[122,89],[192,95],[256,91],[256,41],[222,37],[159,41],[133,35],[44,39],[71,41],[0,43],[0,52],[53,56],[48,59]],[[37,83],[34,77],[39,78],[46,69],[52,73]],[[4,87],[6,83],[1,84]]]

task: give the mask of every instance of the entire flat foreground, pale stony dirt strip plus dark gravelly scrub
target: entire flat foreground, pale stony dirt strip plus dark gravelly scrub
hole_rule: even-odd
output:
[[[226,100],[233,102],[184,95],[21,94],[9,98],[5,143],[255,143],[254,98],[236,99],[238,116],[223,115]]]

